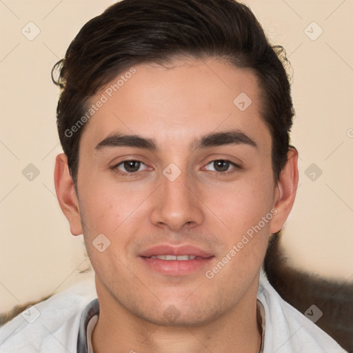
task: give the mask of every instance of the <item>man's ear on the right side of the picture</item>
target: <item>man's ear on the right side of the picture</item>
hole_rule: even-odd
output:
[[[288,161],[281,171],[277,183],[274,208],[277,213],[273,217],[270,227],[271,233],[279,232],[287,220],[294,203],[296,188],[298,188],[298,151],[290,146]]]

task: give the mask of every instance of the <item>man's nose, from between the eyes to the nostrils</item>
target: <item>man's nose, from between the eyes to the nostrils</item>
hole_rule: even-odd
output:
[[[190,228],[203,222],[203,203],[193,186],[195,183],[185,172],[181,172],[175,180],[162,175],[161,183],[154,195],[151,213],[154,225],[177,232],[183,227]]]

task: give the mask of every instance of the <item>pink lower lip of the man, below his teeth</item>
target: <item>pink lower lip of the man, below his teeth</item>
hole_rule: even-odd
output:
[[[214,256],[206,259],[193,259],[186,261],[150,259],[149,257],[143,256],[140,257],[151,270],[161,274],[168,274],[170,276],[185,276],[186,274],[192,274],[198,270],[201,270],[201,268],[208,265],[210,261],[214,259]]]

